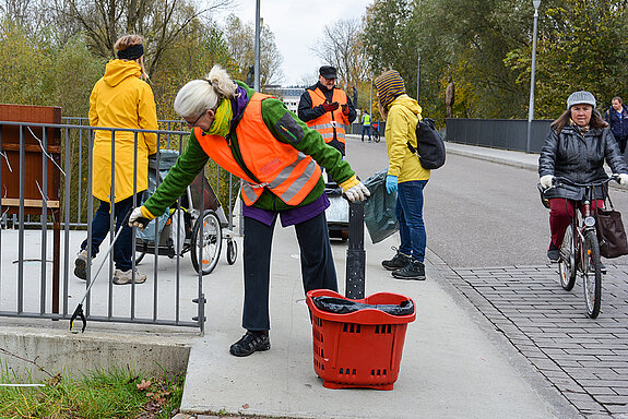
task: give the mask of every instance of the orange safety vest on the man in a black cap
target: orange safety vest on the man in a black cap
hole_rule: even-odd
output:
[[[310,95],[312,108],[327,101],[324,94],[319,87],[313,91],[307,91]],[[337,148],[342,155],[345,155],[345,133],[348,125],[347,117],[342,112],[342,105],[347,105],[346,93],[340,88],[334,88],[332,103],[337,101],[340,106],[332,112],[324,112],[322,116],[311,119],[306,124],[320,132],[325,143]]]

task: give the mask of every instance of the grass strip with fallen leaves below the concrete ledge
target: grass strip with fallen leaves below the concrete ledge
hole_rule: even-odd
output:
[[[183,393],[183,374],[146,378],[130,370],[109,369],[81,378],[61,373],[47,382],[17,380],[0,371],[0,418],[156,419],[170,418]]]

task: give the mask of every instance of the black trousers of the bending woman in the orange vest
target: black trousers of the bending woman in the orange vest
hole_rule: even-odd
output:
[[[271,226],[245,217],[245,308],[242,327],[248,331],[271,328],[269,314],[271,248],[276,217]],[[335,266],[324,212],[296,224],[300,249],[301,279],[305,292],[312,289],[337,291]],[[292,301],[285,301],[291,304]]]

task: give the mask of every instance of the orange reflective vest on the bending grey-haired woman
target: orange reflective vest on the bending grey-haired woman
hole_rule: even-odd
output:
[[[262,120],[262,100],[272,97],[253,93],[236,128],[239,152],[248,170],[235,160],[229,143],[199,127],[194,136],[212,160],[242,179],[245,204],[252,205],[268,188],[288,205],[298,205],[321,177],[320,166],[308,155],[277,141]],[[251,173],[252,179],[248,173]]]

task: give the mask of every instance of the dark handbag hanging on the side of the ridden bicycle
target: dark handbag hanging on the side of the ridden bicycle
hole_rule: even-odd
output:
[[[611,197],[607,199],[609,207],[597,208],[595,224],[600,254],[606,259],[613,259],[628,254],[628,240],[621,222],[621,213],[615,211]]]

